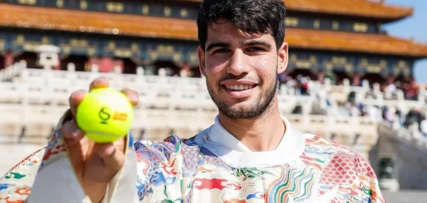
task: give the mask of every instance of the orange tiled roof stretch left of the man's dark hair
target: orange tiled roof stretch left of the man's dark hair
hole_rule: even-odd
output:
[[[185,23],[183,23],[185,22]],[[195,40],[195,21],[0,3],[0,25]]]

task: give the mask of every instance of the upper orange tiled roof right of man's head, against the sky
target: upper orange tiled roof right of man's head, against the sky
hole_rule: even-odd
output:
[[[202,2],[202,0],[175,0]],[[282,0],[289,11],[363,16],[392,21],[410,16],[412,8],[386,5],[374,0]]]

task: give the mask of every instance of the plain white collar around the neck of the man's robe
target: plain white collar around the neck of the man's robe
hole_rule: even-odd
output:
[[[252,152],[238,141],[215,118],[215,124],[197,134],[195,142],[205,147],[231,167],[268,167],[283,165],[296,160],[304,151],[306,141],[302,133],[292,129],[288,119],[282,117],[286,131],[277,149],[271,151]]]

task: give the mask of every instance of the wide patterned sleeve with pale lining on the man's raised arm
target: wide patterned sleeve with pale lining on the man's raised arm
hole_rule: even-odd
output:
[[[62,137],[62,125],[70,119],[71,112],[68,110],[53,131],[48,145],[28,156],[0,179],[0,201],[91,202],[75,176]],[[125,165],[108,184],[102,203],[139,202],[136,192],[136,154],[130,134],[127,140]]]

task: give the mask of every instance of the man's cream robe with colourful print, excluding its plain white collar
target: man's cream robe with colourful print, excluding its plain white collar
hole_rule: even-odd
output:
[[[211,150],[200,147],[195,138],[181,140],[172,135],[164,142],[136,142],[129,148],[136,160],[128,163],[136,164],[136,174],[128,172],[123,176],[136,177],[135,187],[129,189],[131,194],[135,193],[134,203],[385,202],[367,160],[333,141],[307,133],[299,136],[305,140],[305,148],[295,160],[268,167],[241,168],[231,167]],[[132,141],[129,144],[132,146]],[[43,188],[33,191],[36,176],[42,176],[46,185],[65,182],[62,184],[65,186],[54,187],[64,187],[58,190],[66,190],[70,197],[81,195],[78,182],[72,179],[74,174],[56,178],[41,174],[49,167],[69,168],[67,159],[66,146],[57,130],[44,150],[29,156],[0,179],[0,202],[20,203],[26,202],[28,195],[49,194]],[[110,195],[103,203],[119,202],[124,198],[120,197],[123,188],[131,186],[120,181],[116,185],[111,190],[115,192],[113,197]],[[83,198],[84,192],[78,199]]]

